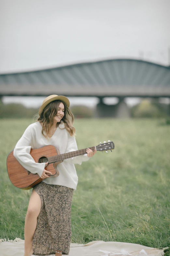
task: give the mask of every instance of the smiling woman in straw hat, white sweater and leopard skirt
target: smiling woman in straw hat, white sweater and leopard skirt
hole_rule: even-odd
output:
[[[74,163],[89,160],[93,152],[65,159],[57,165],[60,175],[50,177],[47,163],[36,163],[30,155],[31,148],[54,145],[60,154],[78,150],[72,126],[74,116],[65,96],[50,95],[39,109],[39,117],[28,126],[14,149],[21,165],[40,178],[46,178],[33,188],[25,217],[24,256],[68,255],[71,243],[71,202],[78,177]]]

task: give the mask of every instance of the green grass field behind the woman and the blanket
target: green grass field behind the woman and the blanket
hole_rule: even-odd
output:
[[[32,120],[0,122],[0,238],[24,239],[31,190],[12,185],[6,159]],[[108,140],[115,149],[75,165],[72,243],[103,240],[169,247],[170,126],[160,119],[79,119],[74,126],[78,149]]]

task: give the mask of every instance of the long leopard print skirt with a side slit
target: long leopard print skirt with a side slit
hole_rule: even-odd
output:
[[[33,189],[41,198],[41,210],[32,242],[33,254],[55,255],[56,251],[62,251],[62,254],[68,255],[74,190],[45,182],[39,183]]]

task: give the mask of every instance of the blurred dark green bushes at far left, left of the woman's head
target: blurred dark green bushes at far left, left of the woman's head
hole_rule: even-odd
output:
[[[1,104],[0,118],[32,118],[37,111],[34,108],[26,108],[22,104]]]

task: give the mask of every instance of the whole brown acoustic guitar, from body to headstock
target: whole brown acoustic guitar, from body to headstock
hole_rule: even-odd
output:
[[[103,144],[100,143],[100,145],[89,147],[94,152],[94,149],[96,148],[97,151],[106,151],[110,150],[112,152],[112,149],[115,148],[114,143],[111,141],[104,141]],[[43,162],[49,162],[49,164],[45,167],[47,171],[50,171],[52,175],[49,175],[51,177],[57,177],[59,176],[59,171],[57,170],[57,164],[64,161],[64,159],[68,159],[75,156],[80,156],[86,154],[87,148],[79,149],[77,151],[72,151],[64,154],[60,154],[59,150],[53,146],[53,145],[47,145],[43,146],[41,148],[31,148],[30,155],[33,157],[35,162],[37,163],[43,163]],[[38,183],[40,183],[43,179],[39,177],[39,175],[33,174],[26,170],[14,157],[12,150],[8,157],[7,157],[7,171],[8,176],[12,184],[17,187],[21,188],[23,190],[28,190],[33,187],[35,187]],[[44,178],[48,179],[48,178]]]

